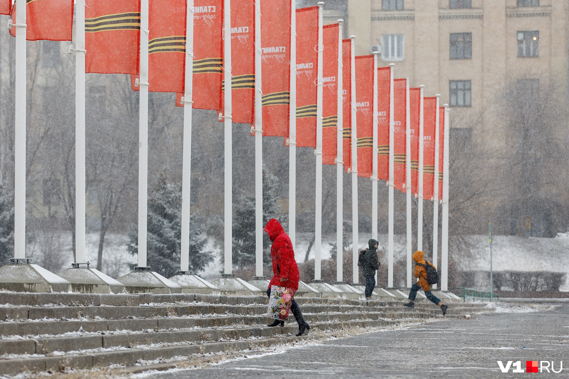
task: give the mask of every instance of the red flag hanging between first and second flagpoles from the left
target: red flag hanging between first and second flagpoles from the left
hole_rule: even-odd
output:
[[[4,11],[2,9],[1,13],[9,14],[3,13]],[[16,3],[11,15],[15,23]],[[26,0],[26,25],[28,41],[71,41],[73,0]],[[16,27],[10,29],[10,35],[16,36]]]

